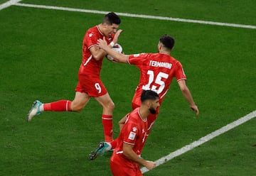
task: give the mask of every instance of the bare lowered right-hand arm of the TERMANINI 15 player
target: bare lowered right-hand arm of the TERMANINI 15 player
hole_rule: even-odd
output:
[[[198,106],[196,106],[195,102],[193,101],[193,97],[191,95],[191,92],[189,91],[188,87],[186,86],[185,80],[178,81],[178,86],[181,89],[181,92],[183,94],[183,97],[188,101],[189,106],[193,111],[196,111],[196,115],[199,115],[199,109]]]

